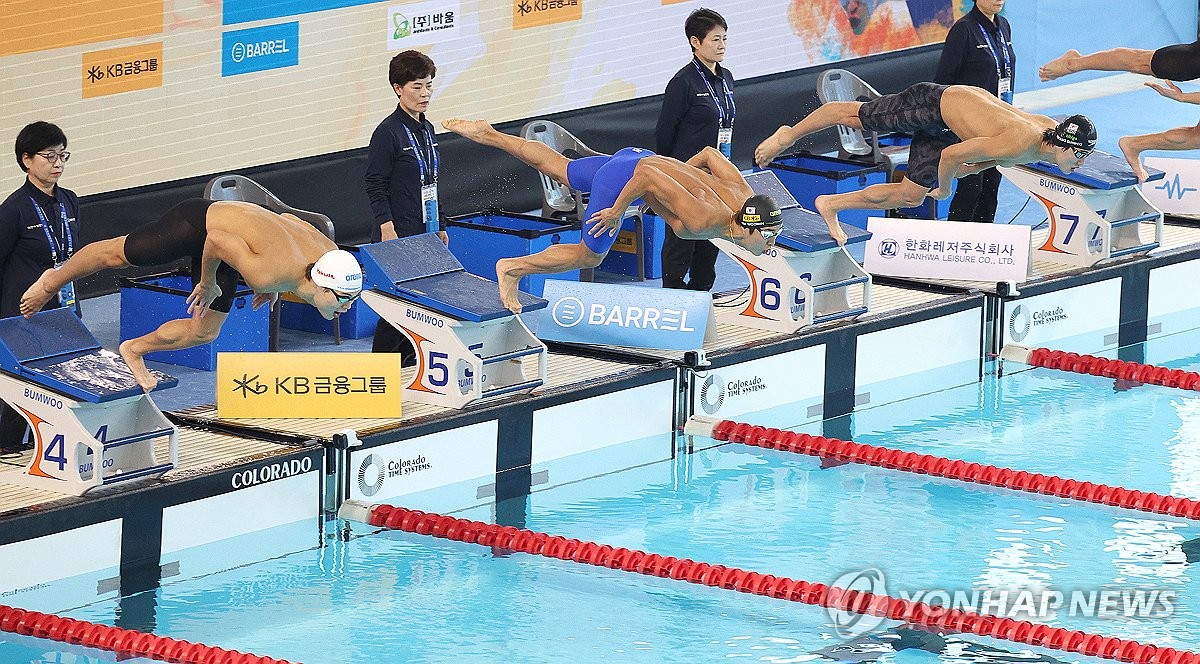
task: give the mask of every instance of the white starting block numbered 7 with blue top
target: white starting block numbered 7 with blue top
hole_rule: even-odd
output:
[[[1050,234],[1033,247],[1036,261],[1091,267],[1145,253],[1163,241],[1163,213],[1138,190],[1122,157],[1097,150],[1069,174],[1040,161],[1000,172],[1046,209]],[[1146,172],[1148,180],[1163,178],[1162,171]],[[1142,227],[1153,239],[1142,235]]]

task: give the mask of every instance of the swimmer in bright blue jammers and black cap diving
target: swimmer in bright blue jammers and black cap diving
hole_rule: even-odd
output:
[[[481,145],[499,148],[571,189],[592,192],[580,244],[551,245],[530,256],[496,263],[500,300],[514,313],[521,312],[521,277],[599,265],[617,239],[625,210],[638,198],[683,239],[721,238],[755,256],[775,244],[782,227],[779,205],[769,196],[756,196],[737,167],[715,148],[706,148],[686,163],[641,148],[571,160],[545,143],[500,133],[485,120],[454,119],[442,126]]]

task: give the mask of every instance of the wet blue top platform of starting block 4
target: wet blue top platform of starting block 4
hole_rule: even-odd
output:
[[[0,369],[91,403],[142,394],[125,360],[102,349],[67,309],[0,319]],[[155,389],[179,384],[173,376],[151,373],[158,379]]]

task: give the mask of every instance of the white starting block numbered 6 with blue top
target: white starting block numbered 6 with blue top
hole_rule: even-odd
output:
[[[755,256],[728,240],[710,240],[737,261],[750,276],[750,301],[733,323],[780,333],[794,333],[815,323],[853,318],[871,305],[871,275],[846,247],[829,235],[821,215],[805,210],[772,171],[746,175],[755,193],[775,199],[784,213],[784,228],[775,246]],[[846,244],[866,241],[870,233],[842,225]],[[862,288],[862,306],[852,307],[850,289]]]

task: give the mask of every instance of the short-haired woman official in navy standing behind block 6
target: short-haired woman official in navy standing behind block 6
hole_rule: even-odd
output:
[[[654,131],[655,151],[688,161],[706,146],[732,154],[733,74],[721,66],[728,25],[721,14],[698,8],[683,24],[691,61],[667,83]],[[662,241],[662,287],[710,291],[716,281],[716,245],[680,240],[671,227]]]

